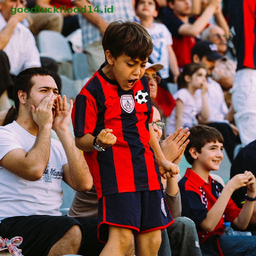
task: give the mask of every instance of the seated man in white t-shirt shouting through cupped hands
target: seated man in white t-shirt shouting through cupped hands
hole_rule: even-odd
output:
[[[87,191],[92,177],[69,130],[73,102],[44,68],[18,74],[14,101],[17,120],[0,127],[0,236],[21,236],[26,256],[77,254],[83,228],[61,216],[61,181]]]

